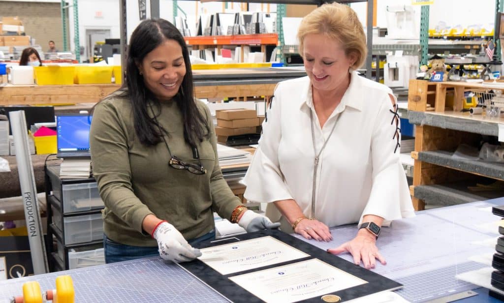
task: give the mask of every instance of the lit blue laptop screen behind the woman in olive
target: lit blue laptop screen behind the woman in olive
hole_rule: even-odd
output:
[[[57,116],[58,153],[89,150],[90,126],[91,116],[88,114]]]

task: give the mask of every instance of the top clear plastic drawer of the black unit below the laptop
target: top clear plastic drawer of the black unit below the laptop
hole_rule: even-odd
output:
[[[96,182],[61,185],[63,213],[89,211],[104,207]],[[53,190],[54,193],[54,190]]]

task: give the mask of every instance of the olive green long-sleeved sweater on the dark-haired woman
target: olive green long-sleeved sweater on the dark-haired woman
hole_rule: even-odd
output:
[[[129,99],[115,94],[95,107],[89,136],[91,159],[105,203],[104,232],[111,240],[133,246],[157,246],[142,230],[142,221],[148,214],[173,224],[185,239],[194,239],[214,229],[213,211],[229,218],[240,205],[222,177],[210,111],[201,101],[196,103],[211,129],[209,139],[198,145],[201,162],[207,169],[205,175],[169,167],[170,155],[164,142],[155,146],[142,144],[135,132]],[[169,133],[165,139],[172,156],[186,163],[198,163],[184,140],[177,104],[162,103],[157,120]]]

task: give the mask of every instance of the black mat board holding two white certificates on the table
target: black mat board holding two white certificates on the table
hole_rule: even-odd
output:
[[[339,302],[402,287],[279,230],[197,247],[200,258],[178,265],[232,302]]]

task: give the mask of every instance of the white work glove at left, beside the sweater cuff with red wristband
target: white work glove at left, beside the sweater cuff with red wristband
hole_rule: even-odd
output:
[[[158,242],[159,255],[167,261],[187,262],[200,257],[199,249],[192,247],[185,241],[182,234],[174,226],[166,221],[161,222],[152,238]]]

